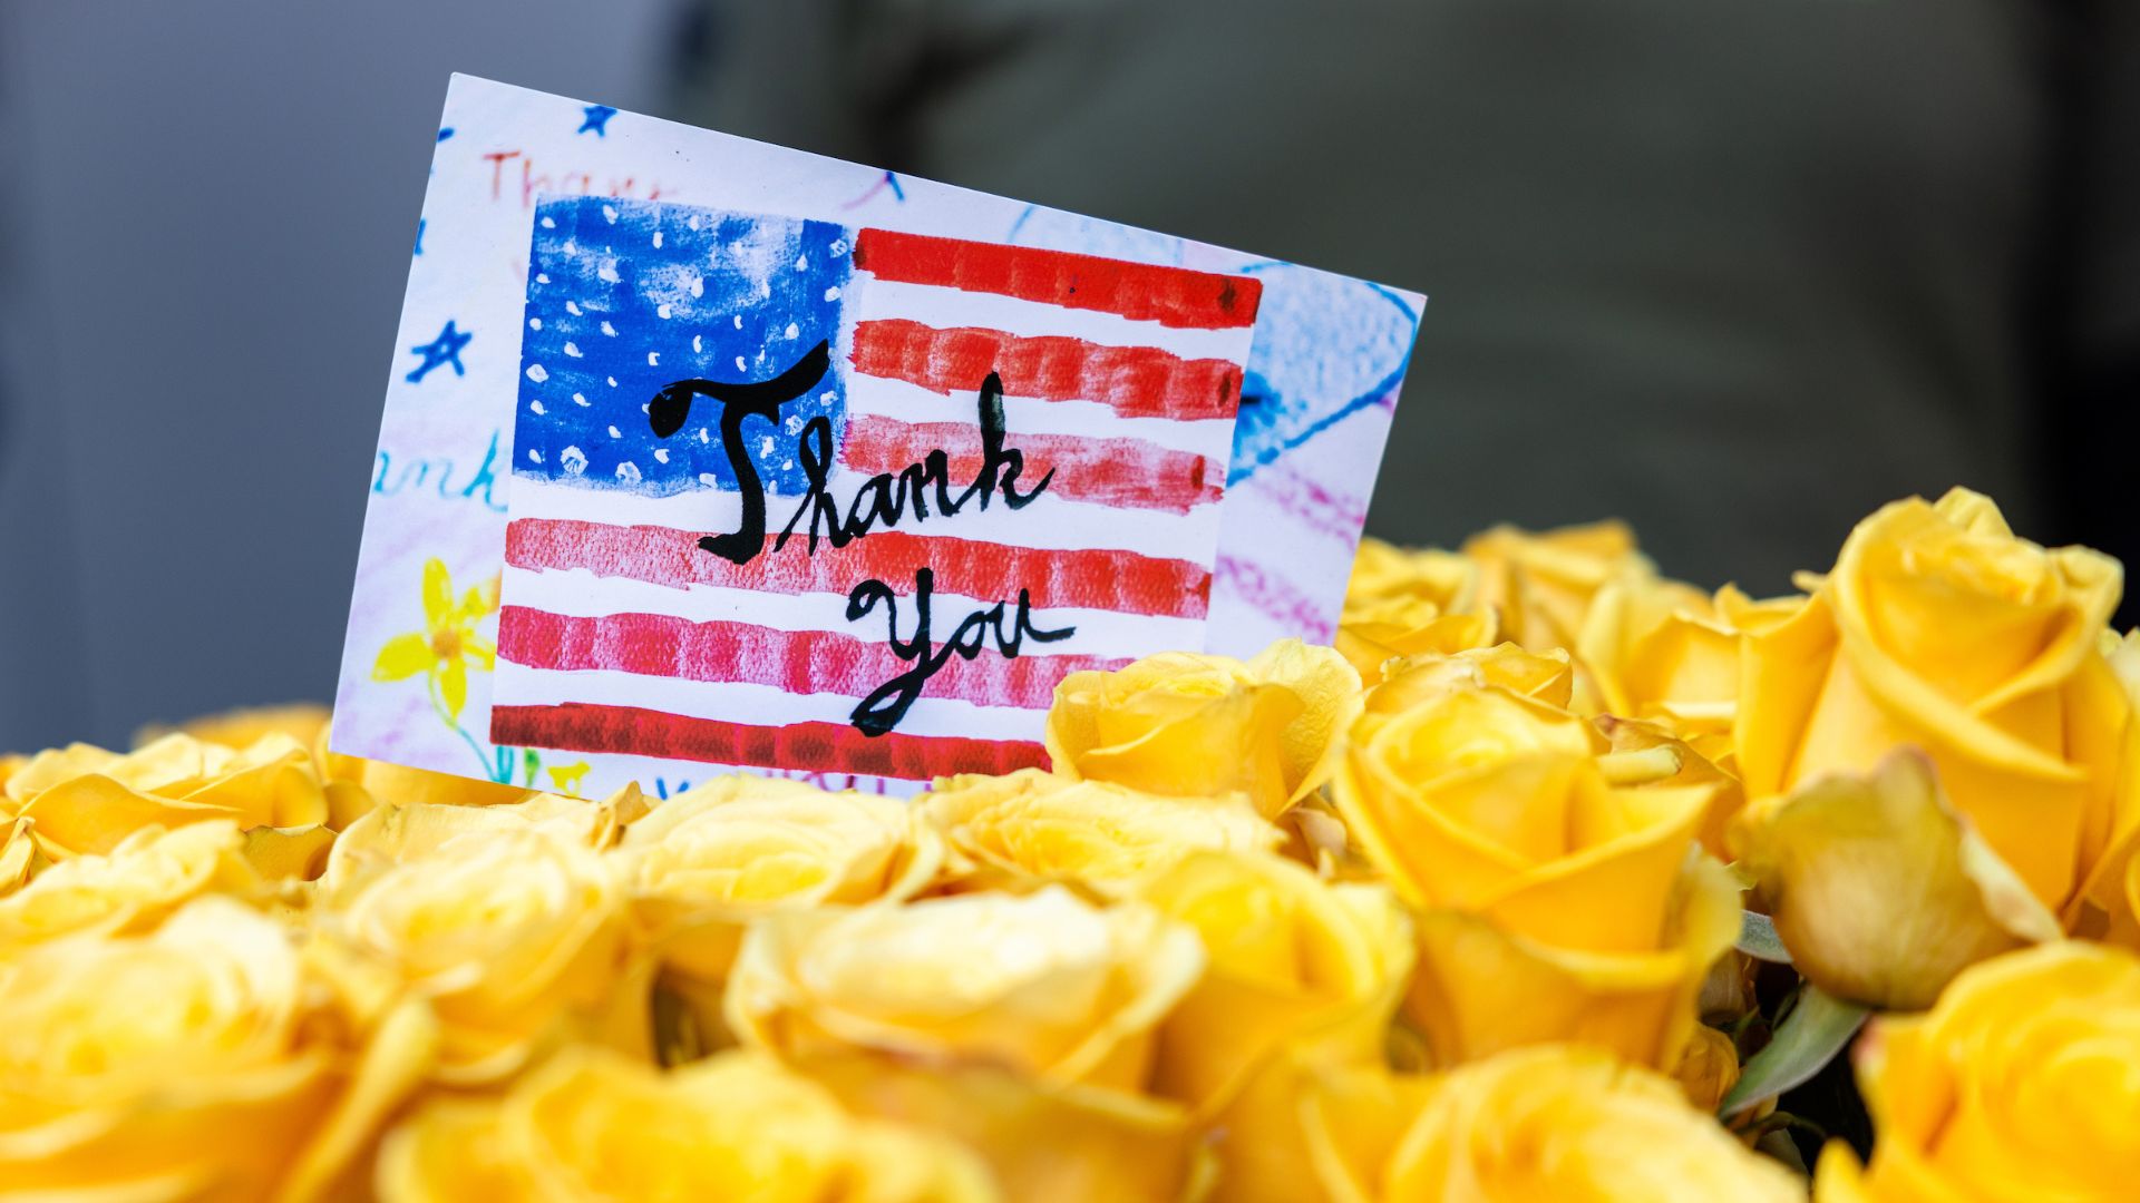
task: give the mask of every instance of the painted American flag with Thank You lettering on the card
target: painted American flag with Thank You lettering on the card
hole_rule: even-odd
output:
[[[1044,764],[1055,683],[1164,649],[1201,649],[1220,499],[1258,285],[1243,276],[835,223],[599,197],[537,205],[505,535],[499,745],[888,779]],[[719,435],[693,402],[655,432],[681,379],[764,381],[820,340],[830,368],[743,441],[766,484],[766,544],[700,546],[743,520]],[[952,494],[982,462],[978,396],[995,372],[1004,445],[1029,505],[946,518],[907,509],[841,548],[775,537],[802,499],[798,437],[824,417],[841,514],[877,473],[948,454]],[[865,503],[867,507],[867,503]],[[1017,657],[952,657],[886,734],[850,715],[912,668],[882,608],[931,638],[1025,591]],[[1010,619],[1006,619],[1006,629]]]

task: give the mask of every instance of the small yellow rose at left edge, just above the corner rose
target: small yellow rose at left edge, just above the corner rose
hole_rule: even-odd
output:
[[[143,931],[199,895],[257,899],[265,890],[244,858],[238,824],[146,826],[122,839],[111,856],[60,861],[0,897],[0,953],[73,933]]]

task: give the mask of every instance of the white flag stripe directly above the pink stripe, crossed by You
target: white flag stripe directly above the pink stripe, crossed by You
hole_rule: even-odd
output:
[[[668,589],[646,580],[625,580],[595,576],[584,567],[571,572],[531,572],[505,565],[501,595],[507,606],[526,606],[571,619],[599,619],[603,614],[674,614],[693,623],[751,623],[775,631],[841,631],[865,640],[882,640],[886,634],[884,610],[871,610],[862,621],[847,621],[847,599],[839,593],[760,593],[755,589],[723,589],[717,584],[693,584],[689,589]],[[914,606],[907,604],[914,582],[890,582],[901,589],[899,636],[914,636]],[[931,593],[931,636],[944,640],[959,625],[959,619],[995,606],[959,597],[952,593]],[[1027,644],[1044,655],[1151,655],[1156,651],[1194,651],[1203,646],[1203,619],[1168,619],[1151,614],[1124,614],[1117,610],[1083,610],[1072,606],[1034,610],[1034,629],[1059,631],[1076,629],[1074,636],[1051,644]]]

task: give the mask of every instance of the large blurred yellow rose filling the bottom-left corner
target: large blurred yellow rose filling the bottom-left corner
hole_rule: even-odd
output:
[[[0,959],[0,1192],[317,1199],[422,1077],[430,1027],[355,1027],[289,935],[220,897],[148,935]]]

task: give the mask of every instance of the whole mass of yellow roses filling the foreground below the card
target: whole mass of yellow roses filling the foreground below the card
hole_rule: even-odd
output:
[[[4,758],[0,1199],[2131,1197],[2119,587],[1960,490],[1759,602],[1367,544],[914,803]]]

